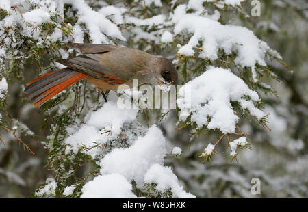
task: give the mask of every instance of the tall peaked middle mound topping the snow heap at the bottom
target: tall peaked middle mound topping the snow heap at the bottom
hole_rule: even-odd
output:
[[[155,125],[143,137],[138,137],[129,148],[117,148],[101,159],[101,173],[118,173],[137,185],[142,185],[143,176],[154,163],[162,164],[166,155],[165,138]]]

